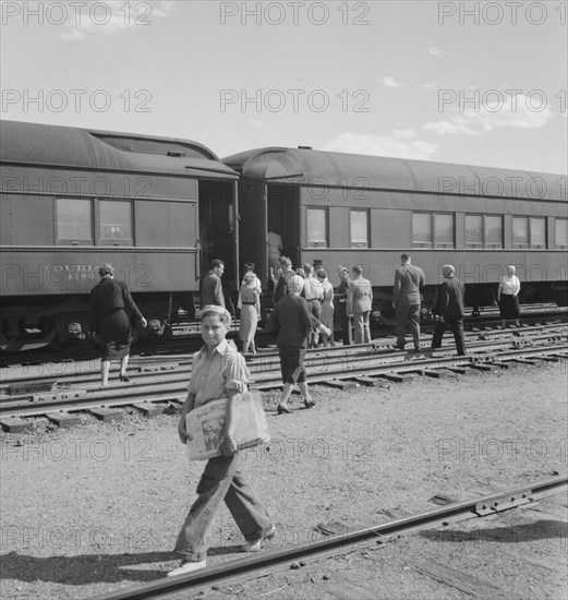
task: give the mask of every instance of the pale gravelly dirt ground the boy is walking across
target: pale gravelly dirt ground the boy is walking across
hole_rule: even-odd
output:
[[[317,539],[322,523],[354,530],[435,508],[435,494],[468,500],[565,473],[567,379],[560,361],[352,392],[313,386],[316,407],[306,410],[294,396],[289,416],[276,416],[277,391],[263,394],[273,442],[245,451],[244,465],[278,527],[270,549]],[[87,598],[161,577],[177,563],[171,549],[203,469],[186,459],[178,417],[82,419],[67,430],[37,420],[34,433],[1,434],[2,598]],[[215,531],[209,565],[242,557],[225,507]],[[406,539],[397,555],[413,543]],[[420,552],[435,560],[439,548]],[[309,598],[315,589],[331,598],[325,585],[350,579],[374,581],[380,598],[436,597],[424,578],[402,581],[388,563],[377,572],[362,555],[317,568],[303,569],[295,587],[264,593],[267,584],[257,580],[201,596]],[[557,573],[548,577],[516,591],[552,598],[566,589]]]

